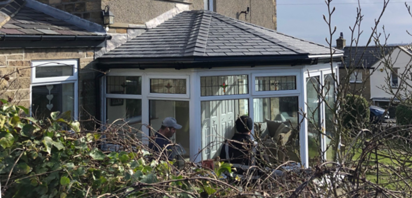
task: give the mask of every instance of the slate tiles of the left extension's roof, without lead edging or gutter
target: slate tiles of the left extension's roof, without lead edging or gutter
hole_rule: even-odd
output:
[[[12,0],[7,4],[0,5],[0,35],[87,36],[101,34],[80,28],[73,23],[69,23],[68,21],[70,20],[58,19],[45,14],[42,10],[31,8],[36,6],[51,9],[51,12],[59,14],[59,11],[52,10],[55,8],[41,4],[40,2],[33,2],[33,0]],[[67,15],[68,13],[64,14]]]

